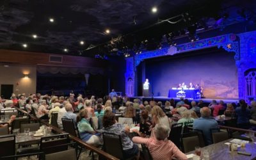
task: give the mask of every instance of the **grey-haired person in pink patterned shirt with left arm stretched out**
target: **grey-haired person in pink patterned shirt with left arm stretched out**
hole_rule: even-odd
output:
[[[170,129],[163,124],[156,124],[154,133],[156,138],[132,138],[134,143],[145,144],[154,160],[171,160],[173,158],[186,160],[186,154],[182,153],[172,141],[167,140]]]

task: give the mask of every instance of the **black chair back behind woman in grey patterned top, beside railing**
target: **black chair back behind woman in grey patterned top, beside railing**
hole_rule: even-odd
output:
[[[121,136],[108,132],[103,132],[102,136],[104,141],[104,151],[118,159],[124,159]],[[131,159],[134,157],[131,157]]]

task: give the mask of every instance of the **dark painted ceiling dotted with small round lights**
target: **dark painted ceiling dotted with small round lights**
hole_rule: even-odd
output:
[[[119,47],[132,47],[147,38],[161,39],[164,34],[188,28],[195,22],[202,22],[204,27],[227,15],[231,19],[232,14],[227,10],[255,10],[253,3],[252,0],[1,0],[0,48],[94,56],[109,52],[104,47],[111,40],[122,41]],[[158,8],[157,13],[151,12],[153,6]],[[178,15],[183,16],[182,20],[172,24],[180,20]],[[175,16],[178,17],[161,22]],[[235,21],[236,16],[233,15]],[[54,22],[49,22],[49,18]],[[34,39],[33,34],[38,38]],[[84,45],[79,44],[81,40]],[[63,51],[65,48],[68,52]]]

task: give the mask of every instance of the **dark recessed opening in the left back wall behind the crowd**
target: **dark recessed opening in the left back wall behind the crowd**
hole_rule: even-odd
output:
[[[106,75],[90,74],[88,85],[86,85],[83,74],[40,74],[37,73],[36,92],[49,93],[52,90],[58,93],[68,95],[70,90],[82,93],[86,97],[96,95],[103,97],[107,93]]]

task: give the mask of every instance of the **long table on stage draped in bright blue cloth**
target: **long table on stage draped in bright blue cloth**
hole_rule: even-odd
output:
[[[200,99],[201,97],[201,93],[200,90],[195,90],[195,89],[179,89],[179,88],[175,88],[175,89],[171,89],[169,90],[168,93],[168,97],[172,98],[172,97],[184,97],[186,99]]]

